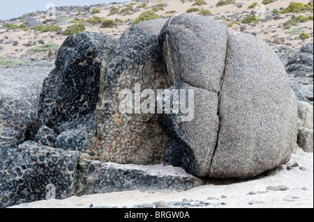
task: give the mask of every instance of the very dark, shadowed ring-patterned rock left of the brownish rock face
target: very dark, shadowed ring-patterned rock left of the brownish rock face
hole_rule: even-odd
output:
[[[109,35],[89,32],[71,35],[63,42],[56,68],[45,79],[40,94],[38,143],[92,153],[100,68],[115,42]],[[48,131],[54,135],[47,135]]]

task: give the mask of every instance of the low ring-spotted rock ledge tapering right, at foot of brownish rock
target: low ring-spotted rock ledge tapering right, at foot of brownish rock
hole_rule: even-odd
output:
[[[121,165],[84,158],[79,165],[78,196],[131,190],[184,191],[202,184],[199,178],[174,171],[170,166],[160,173],[160,168],[154,170],[154,166]]]

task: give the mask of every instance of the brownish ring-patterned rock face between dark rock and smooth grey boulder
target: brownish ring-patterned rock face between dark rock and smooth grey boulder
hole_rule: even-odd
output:
[[[156,95],[157,89],[170,86],[157,48],[150,35],[127,31],[110,55],[110,63],[103,67],[105,81],[100,88],[104,90],[96,109],[94,140],[98,159],[119,164],[163,161],[167,135],[156,121],[154,105],[150,104],[149,113],[143,113],[140,106],[147,97],[142,90],[151,89]],[[151,99],[155,104],[154,95]]]

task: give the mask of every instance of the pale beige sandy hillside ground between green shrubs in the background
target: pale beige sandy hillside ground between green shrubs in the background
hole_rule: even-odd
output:
[[[301,2],[301,3],[308,3],[308,0],[294,0],[297,2]],[[287,1],[287,0],[278,0],[275,1],[274,3],[270,3],[265,5],[264,7],[260,7],[260,8],[250,8],[248,9],[248,6],[250,6],[252,3],[254,2],[258,2],[261,3],[261,0],[242,0],[242,1],[237,1],[237,3],[244,3],[244,5],[242,6],[242,8],[237,8],[237,6],[230,4],[230,5],[226,5],[226,6],[216,6],[216,3],[218,2],[218,0],[206,0],[207,5],[203,5],[203,6],[192,6],[193,2],[190,1],[185,1],[184,3],[182,3],[179,0],[155,0],[155,1],[151,1],[150,3],[148,3],[147,8],[145,9],[141,9],[140,12],[136,12],[133,15],[111,15],[111,16],[107,16],[110,12],[110,6],[105,6],[105,7],[101,7],[100,9],[100,13],[96,14],[96,16],[98,17],[106,17],[107,19],[122,19],[124,20],[123,24],[119,24],[119,26],[117,28],[100,28],[100,25],[91,25],[86,23],[86,28],[87,31],[91,31],[91,32],[102,32],[102,33],[106,33],[109,35],[113,35],[115,38],[119,38],[119,36],[121,36],[121,34],[128,29],[128,27],[130,27],[129,22],[125,22],[126,20],[134,20],[135,18],[137,18],[144,10],[149,10],[151,9],[151,6],[156,5],[157,3],[167,3],[169,6],[165,7],[165,10],[159,10],[156,14],[166,17],[169,15],[176,15],[177,13],[185,13],[186,10],[188,8],[194,8],[194,7],[198,7],[200,9],[207,9],[211,11],[211,14],[209,17],[218,20],[219,22],[222,22],[223,24],[225,24],[225,26],[227,26],[230,22],[234,22],[236,21],[236,19],[239,17],[241,19],[243,19],[246,15],[251,15],[251,11],[255,10],[257,12],[260,12],[262,14],[260,15],[267,15],[269,13],[271,13],[272,10],[274,9],[279,9],[281,7],[285,8],[287,6],[289,6],[289,3],[291,1]],[[114,5],[116,7],[123,7],[126,4],[128,4],[130,2],[127,3],[123,3],[123,4],[117,4]],[[142,3],[136,3],[137,5],[133,6],[133,8],[136,8],[137,6],[139,6]],[[243,13],[243,14],[241,14]],[[72,12],[71,15],[78,17],[78,18],[82,18],[83,15],[76,15],[77,13]],[[83,14],[83,13],[82,13]],[[66,13],[61,13],[58,16],[61,15],[66,15]],[[223,18],[221,18],[222,16],[225,16]],[[302,15],[313,15],[313,13],[311,12],[307,12],[305,14]],[[67,15],[68,16],[68,15]],[[241,24],[247,26],[247,32],[248,33],[252,33],[255,32],[257,35],[257,38],[261,38],[263,40],[274,40],[274,35],[278,35],[278,38],[287,38],[287,37],[292,37],[293,40],[286,40],[285,43],[290,42],[292,44],[292,47],[296,47],[297,49],[299,49],[300,44],[304,45],[306,42],[313,42],[313,35],[311,36],[310,39],[304,40],[302,42],[302,40],[294,40],[294,37],[296,37],[297,35],[291,35],[286,33],[287,30],[285,30],[283,27],[278,28],[278,26],[283,26],[284,22],[287,22],[287,20],[291,19],[292,17],[292,13],[288,13],[288,14],[283,14],[281,15],[283,18],[282,19],[278,19],[278,20],[271,20],[269,22],[257,22],[256,24],[254,24],[253,26],[250,25],[245,25],[245,24]],[[38,16],[36,17],[36,19],[38,19],[40,22],[43,22],[43,20],[45,18],[43,18],[42,16]],[[241,21],[240,19],[240,21]],[[16,24],[22,24],[20,22],[17,22]],[[71,24],[68,23],[66,25],[61,26],[64,29],[66,29],[67,26],[70,26]],[[299,23],[298,26],[293,26],[292,29],[295,29],[297,27],[306,27],[304,28],[306,33],[313,33],[313,22],[312,21],[308,21],[305,23]],[[234,24],[234,26],[227,28],[229,29],[230,33],[234,33],[234,32],[238,32],[240,30],[240,26],[238,24]],[[17,40],[19,42],[19,45],[14,47],[12,44],[9,45],[3,45],[0,44],[1,46],[4,47],[3,50],[0,51],[0,57],[12,57],[12,58],[20,58],[20,56],[22,56],[23,54],[25,54],[27,52],[27,50],[29,50],[31,47],[26,47],[23,46],[23,44],[27,44],[29,41],[31,42],[36,42],[38,40],[44,40],[45,43],[50,43],[50,42],[54,42],[57,43],[58,45],[61,45],[62,42],[66,39],[66,36],[63,35],[55,35],[55,33],[38,33],[38,31],[29,31],[29,32],[25,32],[25,31],[21,31],[20,29],[15,30],[15,31],[4,31],[4,30],[0,30],[0,39],[4,38],[4,37],[8,37],[8,39],[12,39],[12,40]]]

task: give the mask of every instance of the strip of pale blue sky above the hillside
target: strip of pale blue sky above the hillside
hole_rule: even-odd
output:
[[[47,10],[48,3],[55,6],[90,6],[96,3],[111,3],[127,0],[0,0],[0,19],[12,19],[36,10]]]

